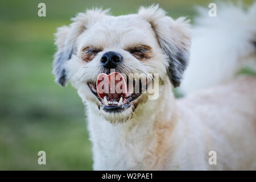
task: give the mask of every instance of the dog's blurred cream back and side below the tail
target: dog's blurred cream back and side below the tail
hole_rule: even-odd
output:
[[[203,133],[205,154],[217,154],[217,165],[209,167],[256,169],[256,76],[198,90],[177,102],[189,132]]]

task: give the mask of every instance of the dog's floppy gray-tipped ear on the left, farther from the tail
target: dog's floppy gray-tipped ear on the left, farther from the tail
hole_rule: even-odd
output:
[[[72,55],[76,53],[76,39],[85,31],[86,28],[92,26],[97,20],[102,19],[108,14],[109,10],[87,10],[85,13],[79,13],[71,20],[73,23],[69,26],[57,28],[55,34],[55,44],[57,52],[53,60],[53,75],[55,81],[61,86],[67,84],[67,71],[65,70],[65,63],[71,59]]]

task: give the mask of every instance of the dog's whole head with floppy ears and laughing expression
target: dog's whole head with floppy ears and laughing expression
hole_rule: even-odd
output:
[[[124,16],[88,10],[73,21],[70,26],[60,27],[56,34],[56,82],[64,86],[69,81],[83,100],[98,106],[108,121],[126,121],[139,104],[147,102],[148,93],[141,88],[154,84],[154,73],[159,74],[161,83],[156,86],[169,81],[179,86],[190,47],[189,24],[184,18],[173,20],[158,6],[151,6]],[[98,76],[105,73],[108,79],[113,71],[117,76],[121,73],[125,80],[122,88],[141,88],[138,92],[131,89],[102,96]],[[132,78],[134,73],[141,80]]]

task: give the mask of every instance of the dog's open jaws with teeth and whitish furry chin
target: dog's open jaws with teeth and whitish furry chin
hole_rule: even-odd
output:
[[[113,73],[115,75],[121,75],[119,73]],[[106,79],[108,79],[108,75],[102,74]],[[123,78],[123,77],[122,77]],[[109,77],[110,79],[110,77]],[[126,81],[123,78],[123,85],[124,90],[122,93],[115,92],[115,93],[110,93],[110,92],[103,92],[100,93],[99,90],[100,86],[93,84],[93,82],[88,83],[88,87],[90,88],[90,91],[93,93],[93,95],[97,98],[97,106],[100,115],[104,117],[107,121],[110,123],[123,123],[128,121],[133,117],[134,111],[137,108],[138,105],[143,104],[144,102],[147,102],[148,100],[148,93],[147,93],[147,88],[148,85],[151,85],[155,82],[152,81],[145,81],[142,83],[141,80],[138,81],[133,81],[131,82],[133,86],[130,88],[130,90],[135,90],[134,88],[139,85],[144,85],[144,88],[142,86],[139,86],[138,88],[138,93],[134,92],[129,92],[129,88],[127,87]],[[98,82],[98,81],[97,81]],[[101,81],[99,81],[101,82]],[[137,82],[137,85],[135,84]],[[118,83],[118,82],[117,82]],[[139,84],[138,84],[139,83]],[[108,84],[108,82],[107,82]],[[135,86],[136,85],[136,86]],[[159,85],[155,85],[155,87],[159,87]],[[137,89],[136,88],[136,89]],[[125,93],[124,93],[125,92]]]

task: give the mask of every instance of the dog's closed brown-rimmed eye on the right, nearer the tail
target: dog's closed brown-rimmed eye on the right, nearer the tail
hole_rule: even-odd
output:
[[[150,59],[151,48],[149,46],[136,46],[128,50],[135,58],[139,60]]]

